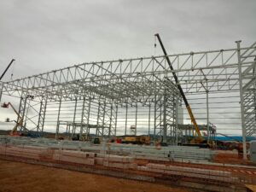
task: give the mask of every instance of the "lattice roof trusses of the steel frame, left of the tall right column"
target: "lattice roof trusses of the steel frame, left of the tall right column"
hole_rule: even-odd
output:
[[[170,55],[174,71],[185,93],[204,91],[201,83],[205,83],[206,79],[201,70],[207,75],[209,90],[237,90],[239,77],[235,58],[236,49]],[[250,64],[251,62],[242,62],[243,67]],[[88,90],[92,93],[115,90],[118,96],[123,90],[131,95],[134,91],[137,94],[148,94],[158,91],[156,87],[150,89],[151,86],[148,84],[151,82],[160,84],[166,77],[172,79],[172,71],[167,67],[164,56],[102,61],[15,79],[3,84],[3,93],[14,95],[26,91],[32,92],[35,96],[48,95],[55,100],[63,95],[67,100],[74,96],[83,96]],[[116,87],[118,85],[122,89],[118,89]]]

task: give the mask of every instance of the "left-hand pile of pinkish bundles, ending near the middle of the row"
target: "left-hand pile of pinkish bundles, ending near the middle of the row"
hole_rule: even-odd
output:
[[[131,156],[117,154],[101,154],[96,152],[80,151],[81,148],[63,149],[57,143],[49,146],[31,146],[32,143],[23,138],[11,138],[13,143],[6,143],[1,140],[0,155],[21,157],[32,160],[53,160],[64,163],[74,163],[88,166],[106,166],[120,169],[135,169],[137,164]],[[9,141],[10,142],[10,141]],[[42,143],[41,143],[42,145]],[[99,151],[99,150],[97,150]]]

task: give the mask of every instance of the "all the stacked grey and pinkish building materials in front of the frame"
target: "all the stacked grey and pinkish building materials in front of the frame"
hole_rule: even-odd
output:
[[[188,157],[182,159],[183,162],[198,160],[201,164],[176,162],[178,157],[186,153]],[[209,149],[188,147],[171,146],[157,149],[151,146],[138,147],[114,143],[94,145],[44,138],[0,137],[0,158],[3,159],[37,162],[63,168],[73,167],[84,172],[120,175],[133,179],[143,178],[147,181],[175,177],[196,183],[197,181],[227,184],[237,184],[241,181],[256,182],[251,175],[245,177],[244,174],[234,174],[232,169],[214,168],[213,164],[207,161],[211,155]],[[125,174],[130,175],[125,176]]]

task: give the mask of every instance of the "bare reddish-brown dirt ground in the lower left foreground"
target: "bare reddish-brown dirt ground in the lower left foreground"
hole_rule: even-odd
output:
[[[0,160],[0,192],[189,192],[170,187],[47,166]]]

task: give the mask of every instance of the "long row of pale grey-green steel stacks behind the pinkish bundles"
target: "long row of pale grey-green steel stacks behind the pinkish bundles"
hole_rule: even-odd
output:
[[[67,150],[86,151],[97,154],[120,154],[129,155],[139,160],[179,161],[191,163],[206,163],[214,158],[215,152],[208,148],[167,146],[155,148],[154,146],[138,146],[117,143],[92,143],[78,141],[56,141],[46,138],[29,137],[0,137],[0,143],[12,143],[14,145],[39,146],[44,148],[56,148]]]

